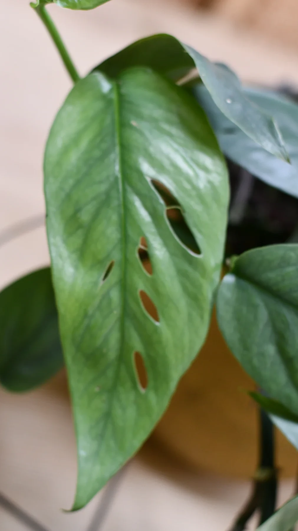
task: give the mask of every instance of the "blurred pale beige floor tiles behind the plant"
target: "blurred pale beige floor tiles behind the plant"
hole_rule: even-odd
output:
[[[180,11],[179,11],[180,9]],[[95,12],[51,6],[76,63],[85,73],[128,42],[171,32],[252,82],[298,84],[298,57],[226,22],[164,6],[161,0],[112,0]],[[44,212],[42,152],[47,132],[71,87],[27,0],[0,5],[0,230]],[[0,249],[0,287],[48,263],[40,227]],[[49,531],[81,531],[98,504],[75,515],[75,443],[65,398],[48,387],[24,396],[0,391],[0,491]],[[291,492],[283,485],[281,500]],[[249,484],[176,470],[165,475],[139,459],[122,478],[104,531],[225,531]],[[252,527],[253,528],[253,524]],[[1,531],[25,531],[0,509]]]

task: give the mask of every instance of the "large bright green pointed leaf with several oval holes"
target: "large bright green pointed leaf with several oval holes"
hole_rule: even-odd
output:
[[[201,255],[176,238],[156,181],[181,204]],[[45,192],[78,509],[141,445],[203,344],[223,255],[227,172],[204,112],[182,89],[147,68],[115,81],[95,72],[75,85],[52,127]],[[139,260],[141,238],[152,275]]]

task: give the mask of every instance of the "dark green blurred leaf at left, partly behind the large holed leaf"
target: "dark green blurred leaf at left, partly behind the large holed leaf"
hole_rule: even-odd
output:
[[[34,271],[0,293],[0,381],[28,391],[63,366],[50,269]]]

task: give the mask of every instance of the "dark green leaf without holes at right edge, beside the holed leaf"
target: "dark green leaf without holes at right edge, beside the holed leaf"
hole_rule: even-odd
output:
[[[217,319],[234,356],[270,398],[298,414],[298,245],[262,247],[233,261]]]

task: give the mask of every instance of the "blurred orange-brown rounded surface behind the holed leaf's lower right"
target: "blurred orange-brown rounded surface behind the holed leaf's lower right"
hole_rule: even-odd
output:
[[[226,347],[213,317],[207,341],[183,376],[153,438],[192,468],[225,477],[252,477],[258,463],[255,389]],[[294,477],[297,451],[276,430],[277,466]]]

